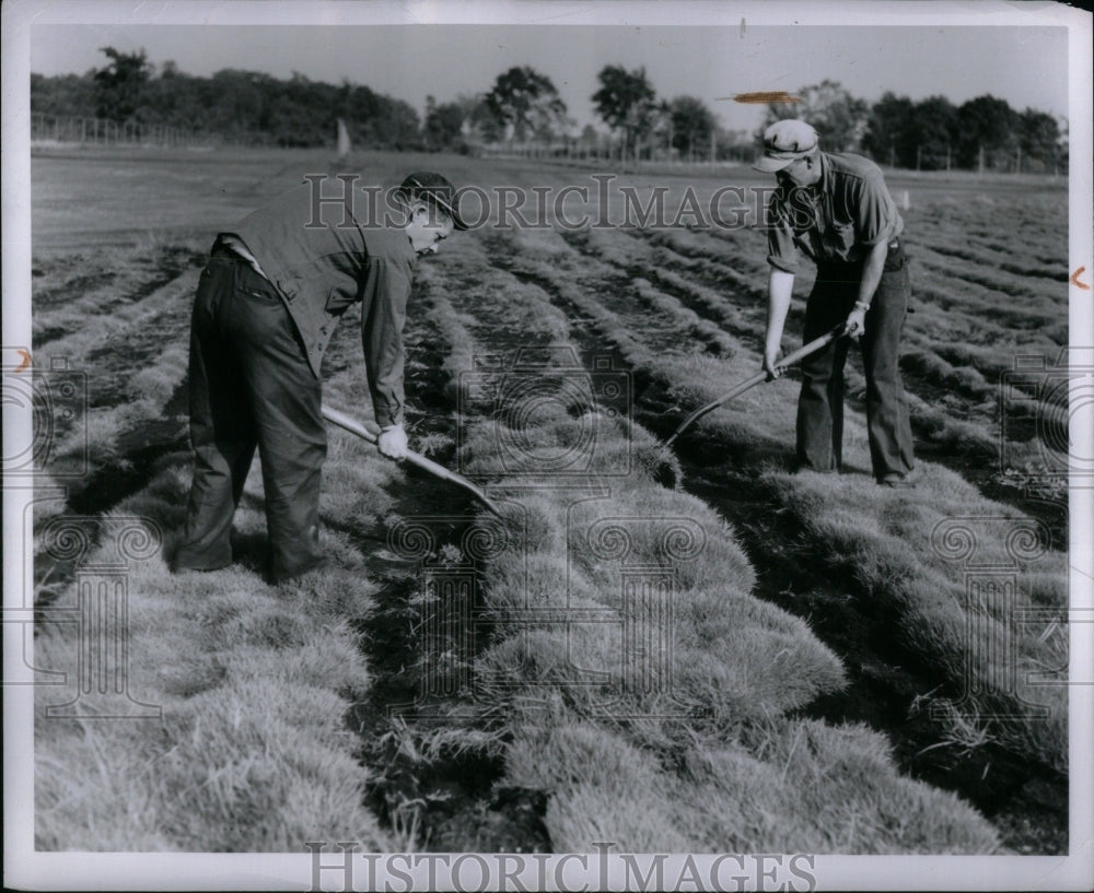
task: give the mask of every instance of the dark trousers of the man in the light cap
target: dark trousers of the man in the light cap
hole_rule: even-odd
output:
[[[803,343],[847,319],[854,309],[862,265],[822,267],[805,308]],[[866,375],[866,431],[874,477],[907,474],[915,466],[908,404],[900,384],[899,348],[911,287],[903,247],[889,248],[885,272],[860,339]],[[842,465],[843,364],[850,340],[837,339],[802,361],[798,401],[798,462],[816,471]]]

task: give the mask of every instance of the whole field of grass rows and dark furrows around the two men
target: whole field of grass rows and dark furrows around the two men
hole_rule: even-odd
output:
[[[337,171],[385,186],[434,168],[491,195],[586,187],[570,220],[609,224],[619,185],[667,187],[670,221],[689,188],[705,205],[740,186],[725,219],[769,185],[622,174],[604,208],[604,171],[351,162]],[[35,510],[36,666],[86,674],[81,635],[96,646],[68,622],[82,568],[133,522],[161,544],[127,565],[125,663],[162,716],[39,710],[39,848],[1067,851],[1066,486],[1045,443],[1067,408],[1036,363],[1015,374],[1067,344],[1063,181],[888,177],[907,193],[917,490],[873,483],[853,351],[846,473],[792,472],[793,373],[661,449],[759,367],[763,233],[488,223],[419,265],[407,428],[503,517],[331,431],[334,569],[261,581],[256,459],[236,564],[174,577],[203,259],[324,173],[323,152],[33,160],[34,365],[67,360],[89,398],[53,422],[44,487],[67,490]],[[324,393],[368,420],[359,329],[350,309]],[[72,697],[38,691],[42,709]]]

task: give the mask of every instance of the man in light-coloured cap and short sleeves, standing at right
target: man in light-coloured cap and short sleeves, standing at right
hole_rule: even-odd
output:
[[[868,158],[822,152],[805,121],[776,121],[764,133],[755,169],[773,173],[768,205],[768,317],[764,368],[776,376],[791,290],[804,254],[817,275],[805,307],[805,342],[846,320],[859,340],[866,376],[866,430],[874,478],[911,486],[911,426],[900,384],[900,332],[910,285],[900,233],[904,221],[882,172]],[[843,364],[839,338],[802,361],[798,403],[799,467],[838,471],[842,461]]]

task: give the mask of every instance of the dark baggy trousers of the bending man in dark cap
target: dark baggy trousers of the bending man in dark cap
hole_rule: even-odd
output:
[[[216,247],[194,302],[189,392],[194,482],[176,566],[231,563],[232,516],[256,446],[270,575],[281,579],[315,565],[327,450],[319,381],[270,282]]]

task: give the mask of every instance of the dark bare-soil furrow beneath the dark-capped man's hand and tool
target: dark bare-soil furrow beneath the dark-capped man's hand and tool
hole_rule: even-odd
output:
[[[449,304],[447,295],[482,294],[484,271],[474,259],[452,267],[438,271],[422,263],[416,277],[404,332],[405,424],[412,448],[457,468],[458,373],[477,350],[472,332],[488,330],[491,321],[479,324]],[[459,287],[447,287],[453,282]],[[485,302],[472,297],[467,303],[481,308]],[[324,359],[329,375],[325,399],[342,408],[359,406],[356,414],[368,419],[357,313],[347,314]],[[498,331],[497,321],[492,328]],[[363,572],[376,587],[375,610],[359,630],[372,685],[350,714],[361,741],[360,759],[369,768],[366,806],[407,850],[548,851],[543,796],[498,784],[503,768],[498,722],[489,705],[475,698],[474,680],[470,689],[440,681],[445,672],[462,679],[490,642],[481,623],[470,650],[458,630],[435,626],[435,597],[428,583],[428,568],[438,567],[443,556],[464,560],[477,504],[465,491],[411,466],[383,468],[389,469],[389,477],[377,482],[384,505],[363,506],[348,513],[348,519],[347,513],[341,520],[331,514],[323,519],[365,555]],[[430,543],[427,552],[408,557],[393,543],[403,541],[401,531],[414,530]],[[480,595],[481,587],[476,583],[469,591]],[[480,608],[468,606],[473,614]],[[431,638],[430,630],[443,642]],[[433,666],[430,661],[439,655],[451,662]]]

